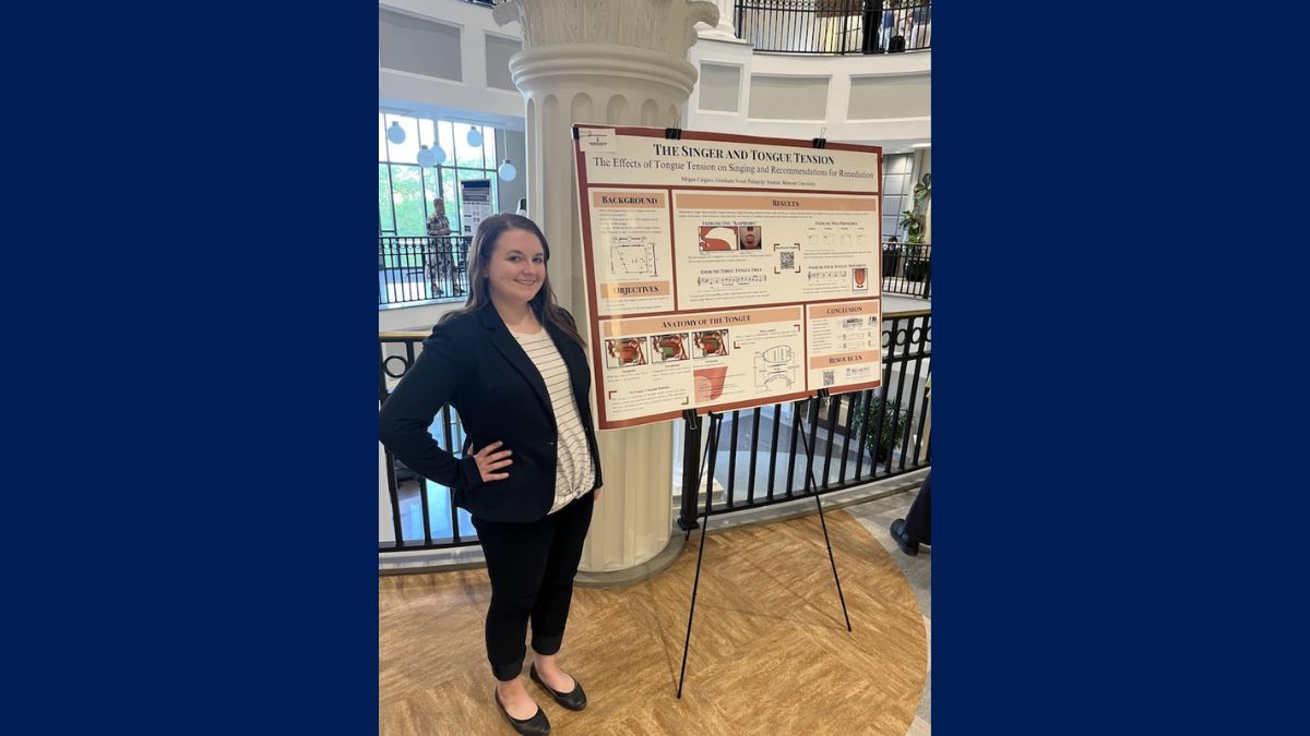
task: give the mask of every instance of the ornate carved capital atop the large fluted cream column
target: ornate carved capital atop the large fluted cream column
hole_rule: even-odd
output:
[[[647,48],[686,59],[697,22],[717,25],[706,0],[504,0],[491,12],[499,25],[517,21],[524,50],[565,43]]]

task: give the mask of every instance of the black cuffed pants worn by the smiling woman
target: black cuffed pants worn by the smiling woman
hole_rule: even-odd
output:
[[[523,672],[523,640],[532,619],[532,651],[559,651],[572,600],[572,579],[587,540],[595,494],[531,524],[473,517],[491,578],[487,609],[487,660],[496,680]]]

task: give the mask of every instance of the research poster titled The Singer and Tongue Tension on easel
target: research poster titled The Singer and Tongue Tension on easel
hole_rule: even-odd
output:
[[[601,430],[880,385],[880,148],[574,134]]]

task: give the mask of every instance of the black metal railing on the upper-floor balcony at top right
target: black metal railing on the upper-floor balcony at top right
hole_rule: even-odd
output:
[[[931,0],[738,0],[738,38],[756,51],[896,54],[933,47]]]

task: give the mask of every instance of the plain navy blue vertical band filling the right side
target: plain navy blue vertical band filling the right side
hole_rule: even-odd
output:
[[[934,732],[1290,732],[1303,118],[1241,18],[934,13]]]

